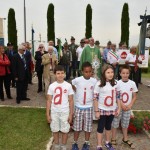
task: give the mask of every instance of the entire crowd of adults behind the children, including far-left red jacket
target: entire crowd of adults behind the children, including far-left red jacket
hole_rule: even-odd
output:
[[[75,43],[75,38],[72,36],[70,44],[66,41],[61,45],[60,40],[57,40],[57,45],[54,46],[54,41],[48,42],[48,47],[44,44],[39,44],[35,52],[35,71],[38,77],[37,93],[45,90],[47,95],[48,87],[55,81],[54,69],[57,64],[63,65],[66,72],[65,80],[70,80],[70,77],[75,78],[81,75],[81,66],[83,62],[88,61],[92,64],[93,76],[100,79],[101,68],[105,63],[113,66],[116,79],[119,76],[120,53],[119,50],[127,49],[125,43],[116,44],[108,41],[105,48],[100,47],[99,41],[94,41],[94,38],[81,39],[80,45]],[[32,84],[32,56],[29,43],[22,43],[18,46],[18,52],[13,49],[13,44],[7,44],[7,50],[0,45],[0,99],[4,101],[3,84],[5,86],[8,99],[12,99],[10,86],[16,87],[16,102],[19,104],[21,100],[30,100],[27,97],[28,83]],[[142,63],[140,57],[136,55],[137,48],[132,46],[130,53],[127,55],[125,63],[131,67],[130,79],[134,80],[137,87],[141,82],[137,63]],[[43,82],[44,81],[44,82]],[[44,83],[44,84],[43,84]]]

